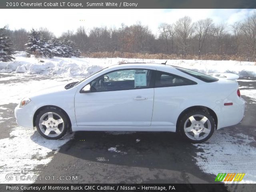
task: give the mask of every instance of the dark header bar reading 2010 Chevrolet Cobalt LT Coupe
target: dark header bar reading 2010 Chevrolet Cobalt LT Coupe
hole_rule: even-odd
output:
[[[1,9],[256,8],[256,0],[0,0]]]

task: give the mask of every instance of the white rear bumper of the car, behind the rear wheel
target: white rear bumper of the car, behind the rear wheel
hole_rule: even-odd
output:
[[[244,118],[245,101],[239,98],[233,102],[231,106],[223,106],[220,114],[218,114],[218,127],[217,129],[233,126],[242,121]]]

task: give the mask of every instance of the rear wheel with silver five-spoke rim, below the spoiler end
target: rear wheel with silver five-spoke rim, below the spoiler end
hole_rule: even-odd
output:
[[[178,129],[186,140],[192,143],[202,143],[212,136],[215,122],[205,110],[190,110],[182,116]]]

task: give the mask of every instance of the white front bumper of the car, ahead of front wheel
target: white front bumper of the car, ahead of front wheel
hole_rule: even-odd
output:
[[[34,129],[33,126],[33,117],[34,117],[34,108],[32,101],[29,102],[26,106],[20,108],[19,104],[14,110],[16,122],[19,126]]]

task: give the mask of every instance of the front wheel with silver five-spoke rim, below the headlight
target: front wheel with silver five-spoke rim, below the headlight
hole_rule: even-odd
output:
[[[45,108],[36,116],[36,129],[44,138],[60,139],[68,130],[66,114],[57,108]]]

